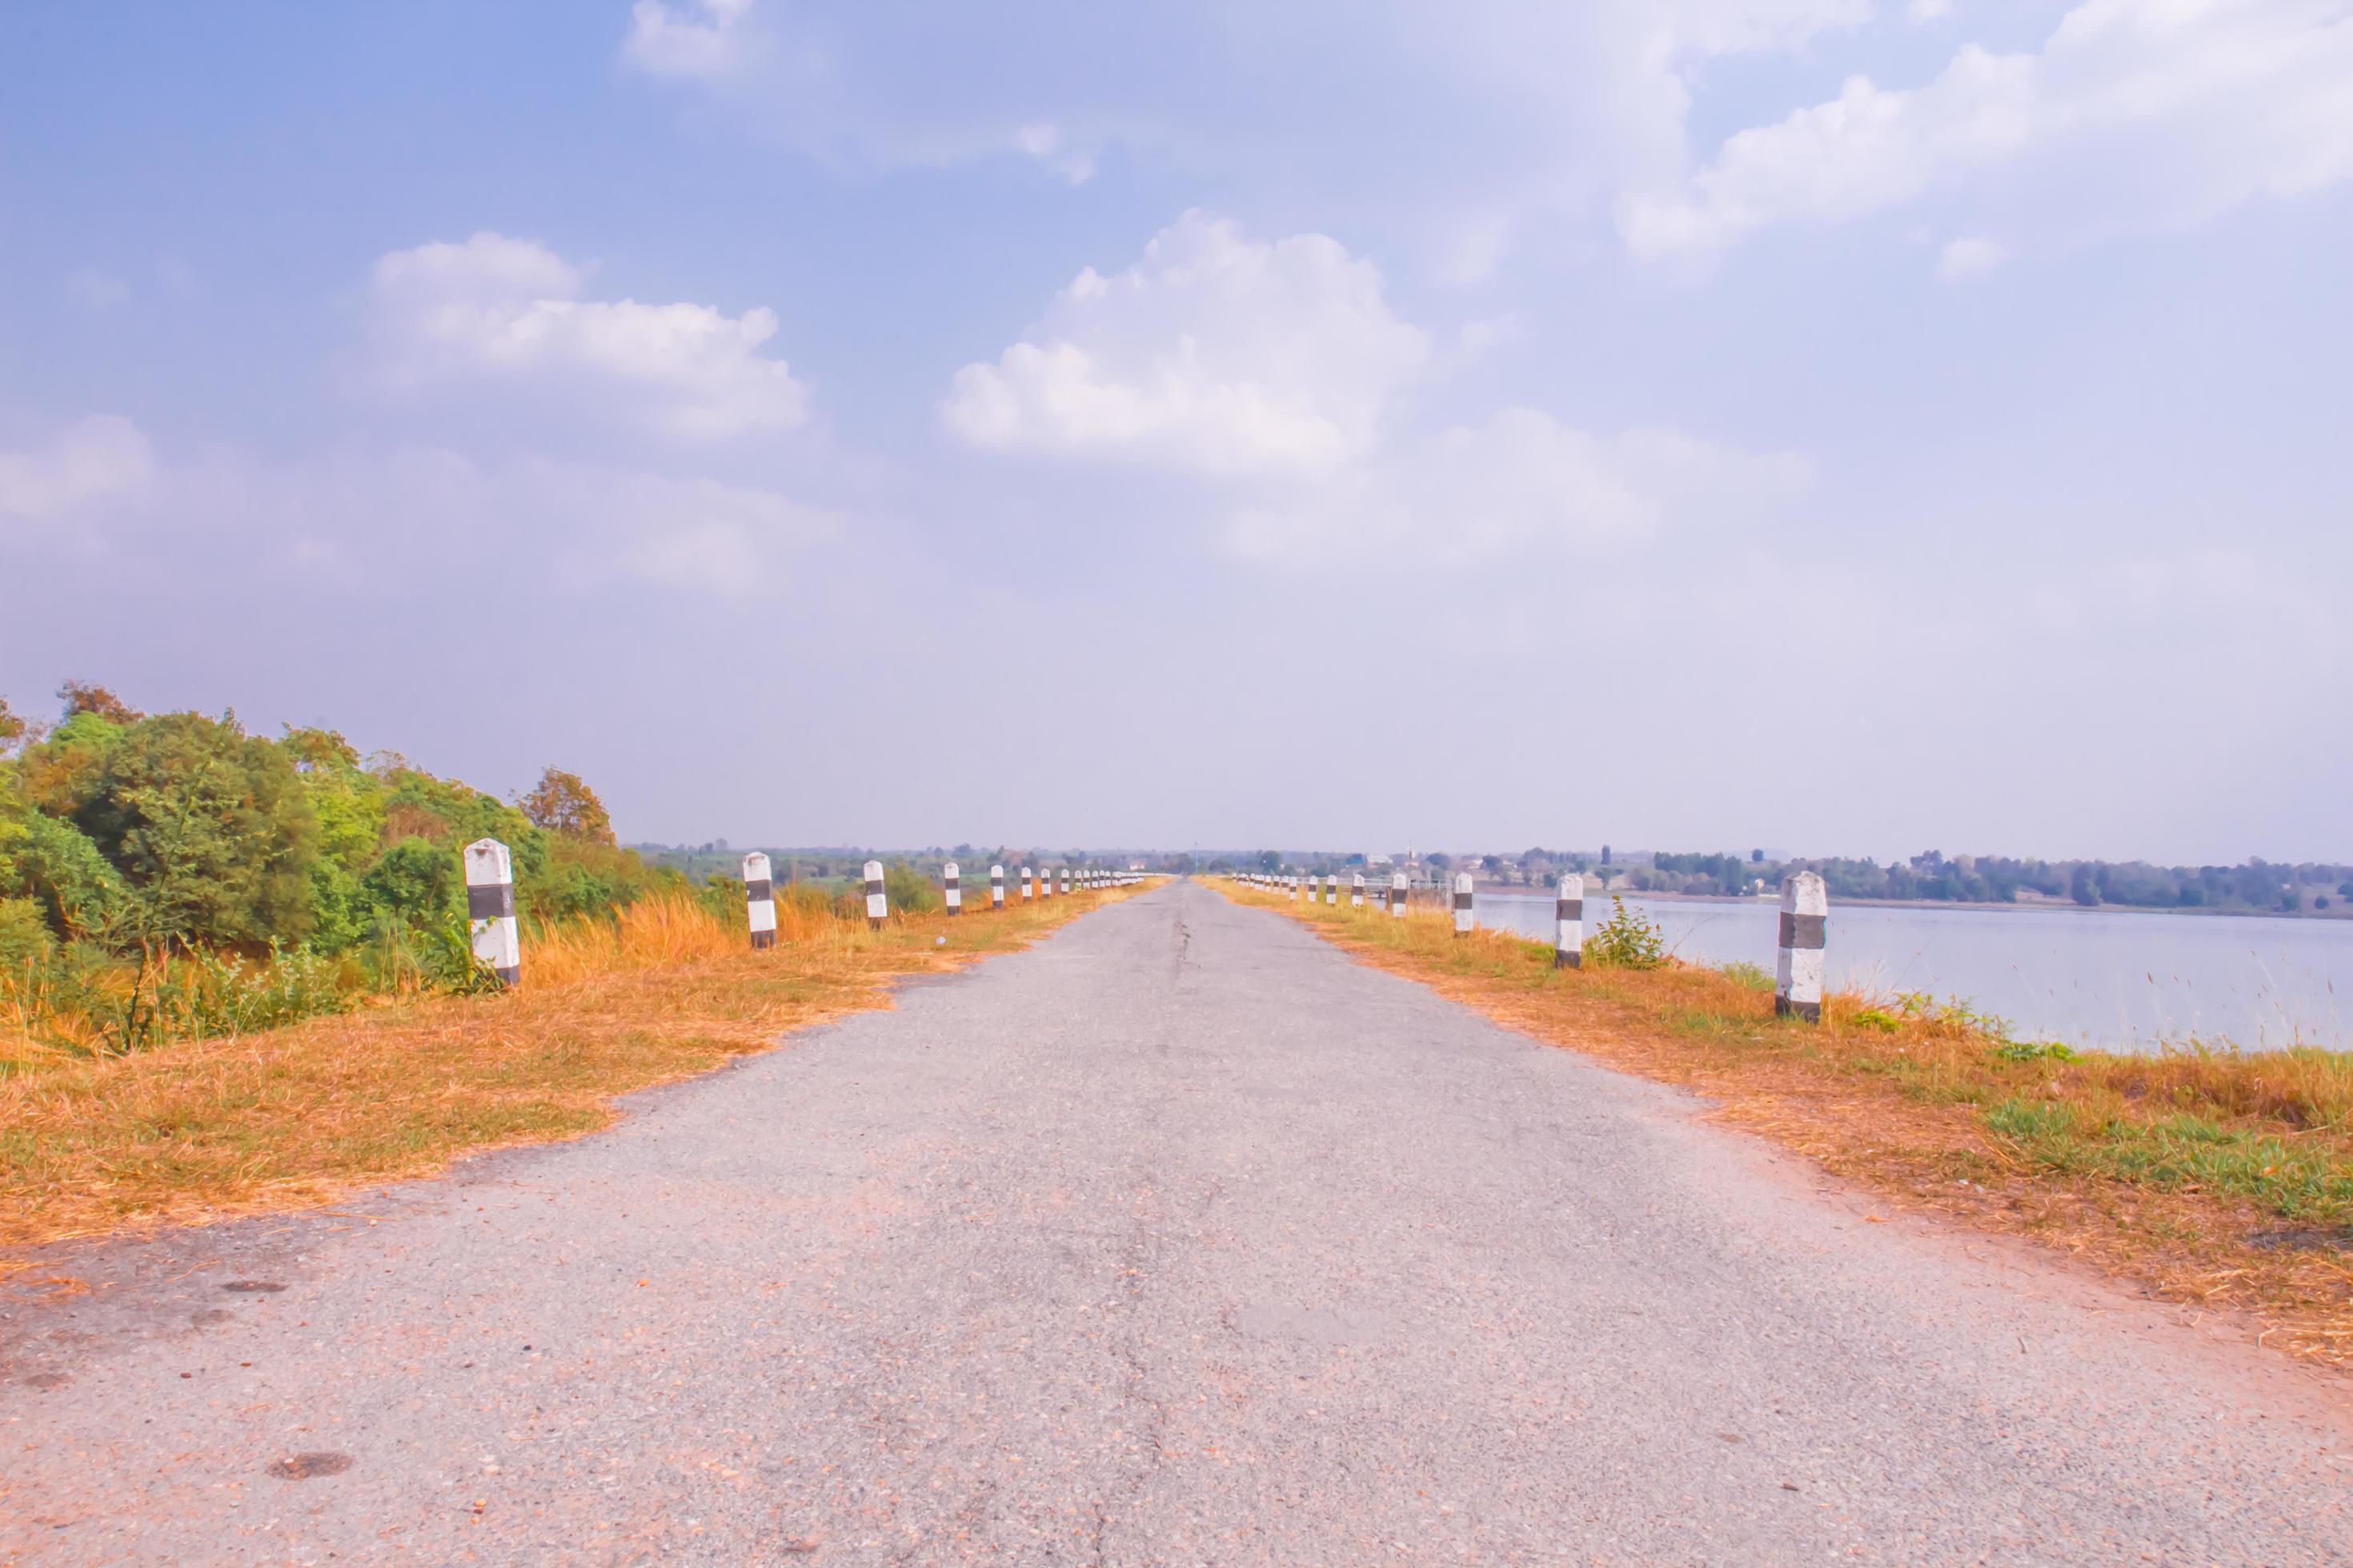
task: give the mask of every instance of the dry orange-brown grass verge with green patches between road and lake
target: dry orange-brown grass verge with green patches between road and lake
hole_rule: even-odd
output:
[[[1555,971],[1551,943],[1452,933],[1442,910],[1292,903],[1337,947],[1497,1023],[1689,1086],[1715,1117],[1882,1192],[2028,1237],[2153,1293],[2247,1312],[2259,1335],[2353,1366],[2353,1056],[2066,1053],[1967,1011],[1838,994],[1777,1020],[1755,976]]]

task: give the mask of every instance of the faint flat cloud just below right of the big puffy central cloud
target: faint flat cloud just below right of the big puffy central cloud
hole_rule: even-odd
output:
[[[1602,437],[1537,409],[1501,409],[1339,484],[1245,505],[1224,543],[1299,567],[1466,567],[1633,541],[1701,517],[1720,524],[1786,505],[1807,482],[1807,465],[1786,454],[1680,430]]]

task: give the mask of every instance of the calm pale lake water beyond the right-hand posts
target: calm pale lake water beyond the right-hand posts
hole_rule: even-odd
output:
[[[1779,898],[1626,898],[1697,964],[1772,971]],[[1482,926],[1553,938],[1553,898],[1480,893]],[[1586,931],[1609,917],[1586,898]],[[2151,1048],[2353,1048],[2353,922],[2120,910],[1906,910],[1831,905],[1831,987],[1962,997],[2021,1039]]]

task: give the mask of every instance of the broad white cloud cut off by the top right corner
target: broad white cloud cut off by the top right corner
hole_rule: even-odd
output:
[[[1840,223],[2000,181],[2049,230],[2205,221],[2353,176],[2346,0],[2087,0],[2040,54],[1960,49],[1918,89],[1739,132],[1682,188],[1631,197],[1638,256],[1708,256],[1779,223]]]

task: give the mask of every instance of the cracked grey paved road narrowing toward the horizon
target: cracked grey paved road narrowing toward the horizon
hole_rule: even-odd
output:
[[[614,1133],[71,1258],[0,1302],[0,1552],[2348,1561],[2311,1378],[1824,1187],[1172,886]]]

